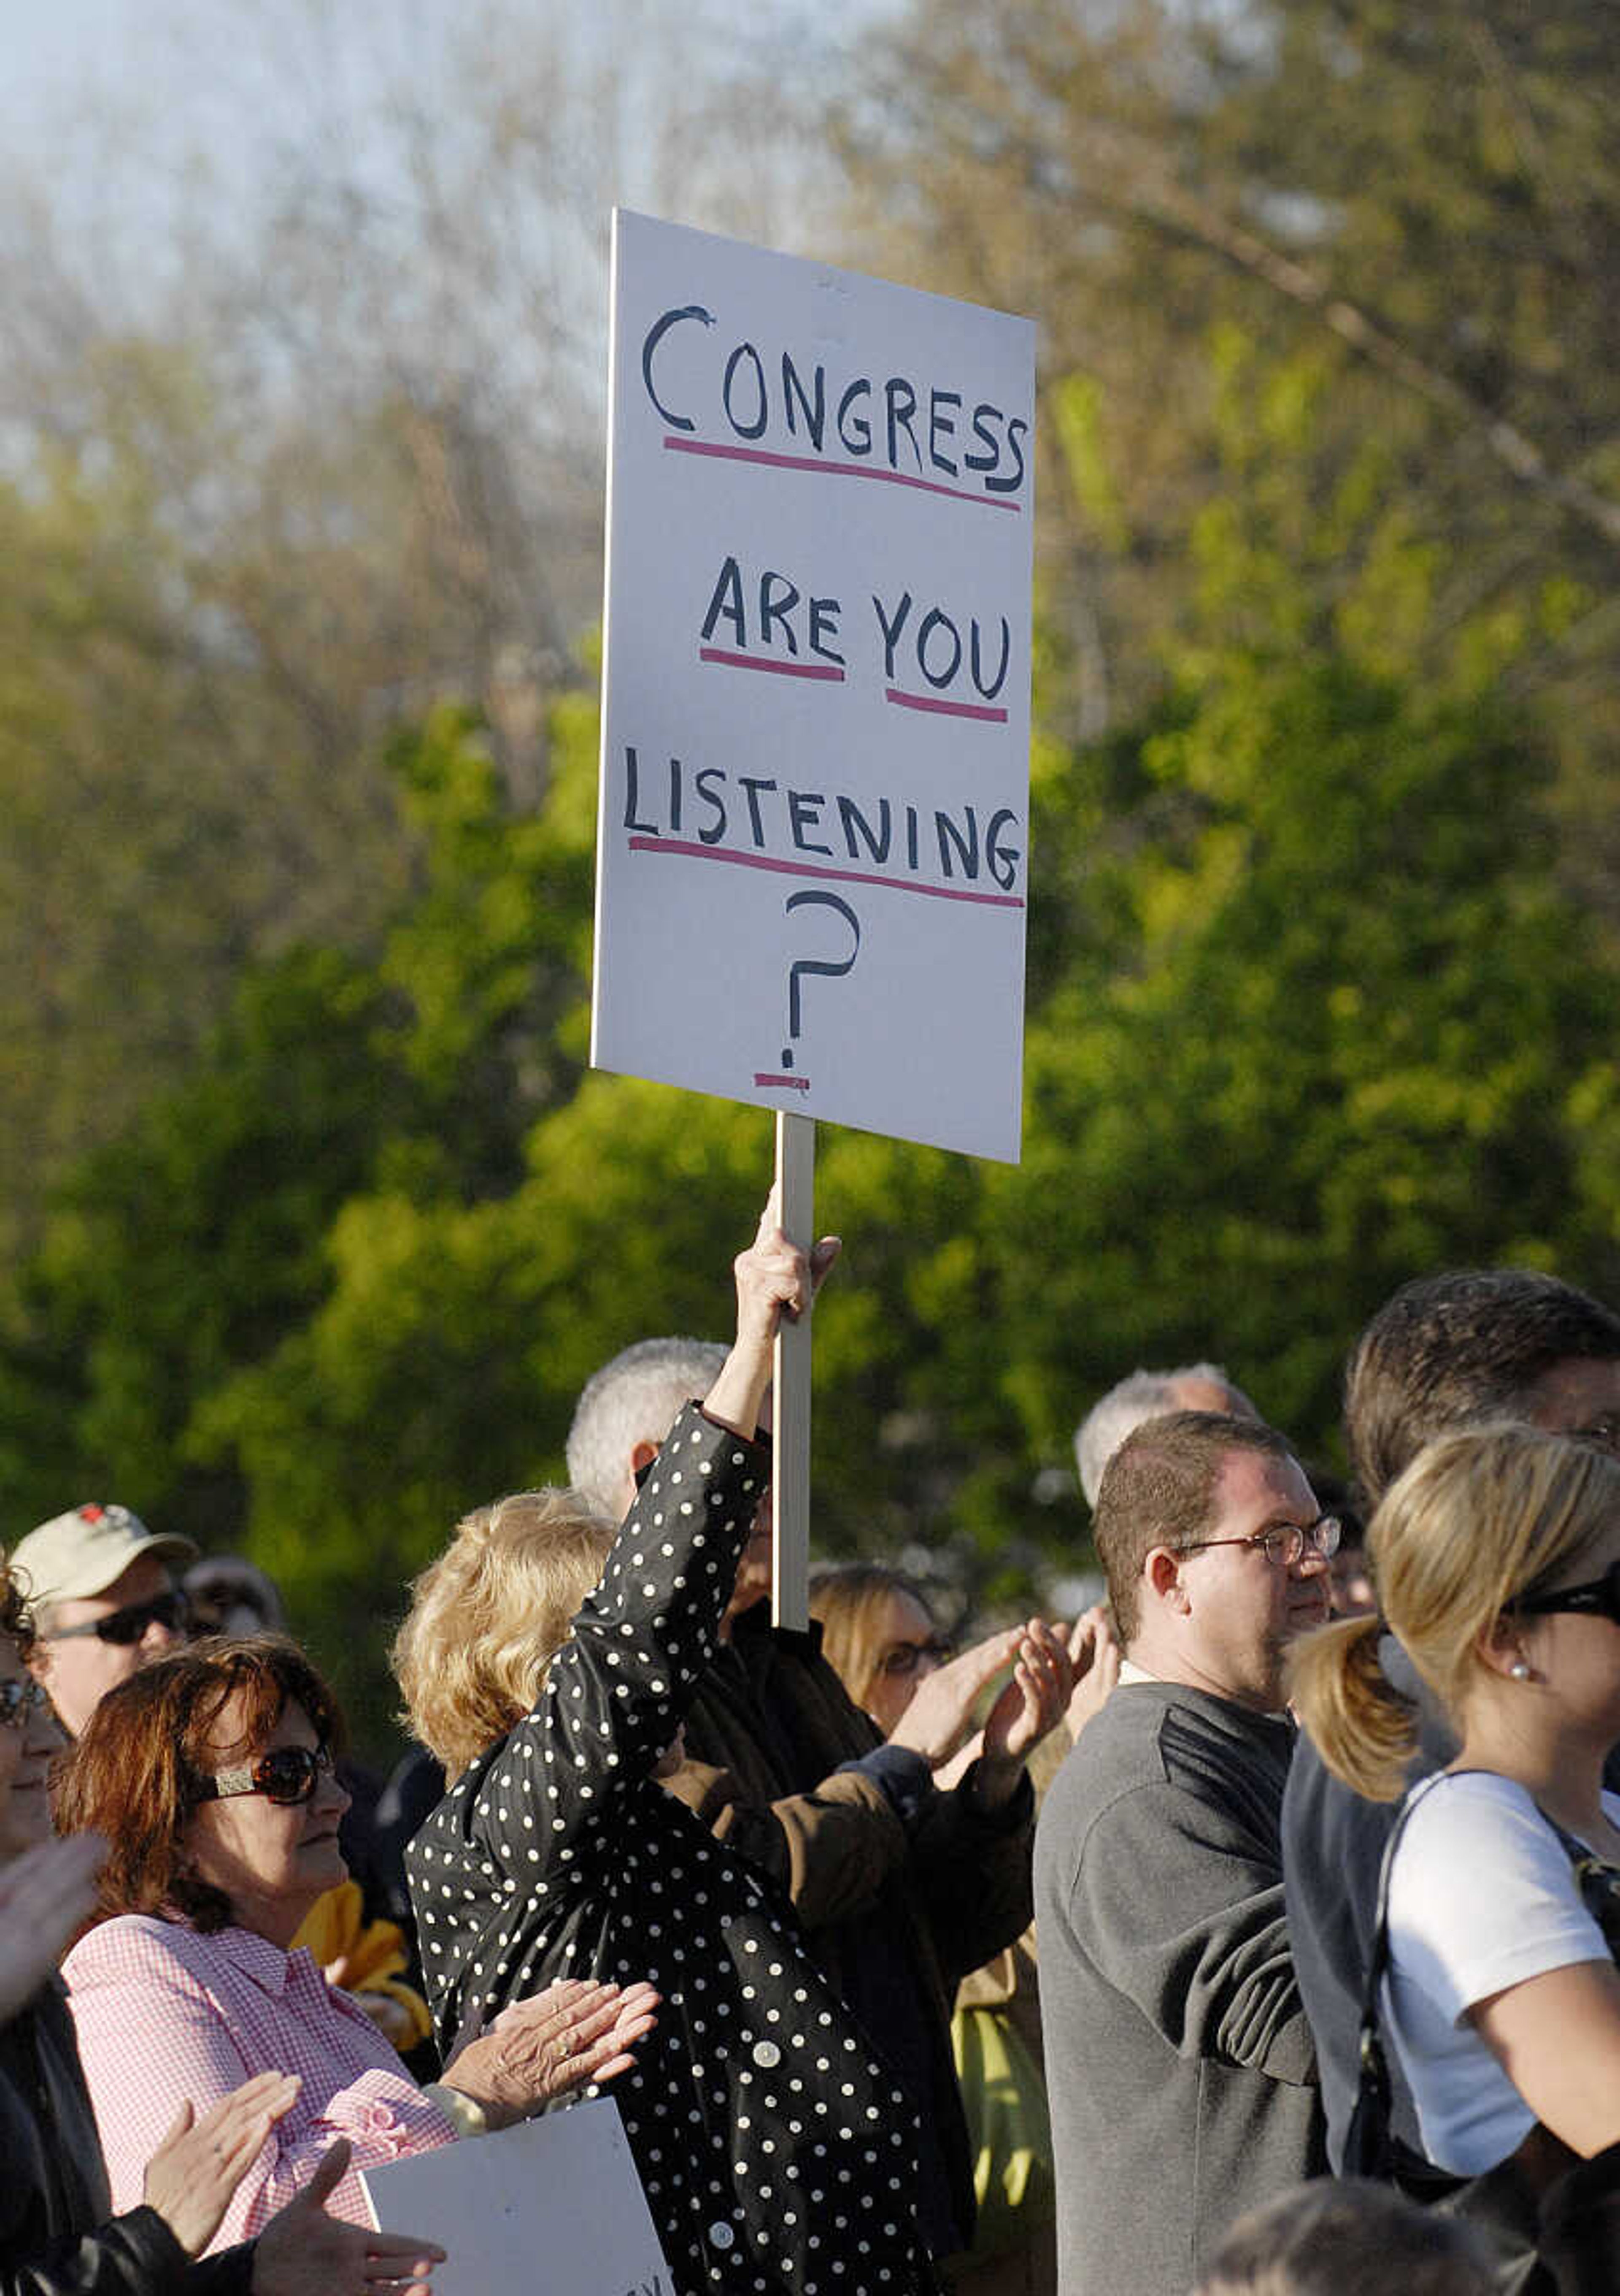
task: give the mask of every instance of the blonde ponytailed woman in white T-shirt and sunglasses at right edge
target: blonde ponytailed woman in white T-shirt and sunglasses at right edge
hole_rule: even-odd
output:
[[[1620,1798],[1602,1789],[1620,1740],[1620,1460],[1519,1426],[1446,1435],[1386,1492],[1368,1550],[1384,1616],[1462,1738],[1393,1837],[1379,2027],[1430,2161],[1457,2177],[1514,2161],[1540,2188],[1620,2140],[1604,1933]],[[1322,1628],[1292,1697],[1329,1768],[1395,1800],[1416,1717],[1379,1632]]]

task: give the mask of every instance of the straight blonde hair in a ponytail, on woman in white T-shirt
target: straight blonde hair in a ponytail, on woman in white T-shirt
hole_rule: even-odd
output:
[[[1457,1428],[1391,1483],[1368,1525],[1384,1621],[1452,1724],[1482,1665],[1480,1637],[1618,1520],[1620,1460],[1526,1426]],[[1384,1621],[1347,1619],[1299,1642],[1290,1701],[1335,1777],[1393,1802],[1418,1733],[1379,1665]]]

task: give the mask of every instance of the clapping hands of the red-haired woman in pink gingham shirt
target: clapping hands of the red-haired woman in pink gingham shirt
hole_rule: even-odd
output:
[[[482,2105],[491,2126],[521,2122],[587,2080],[615,2080],[652,2032],[659,1995],[647,1984],[613,1986],[564,1977],[509,2002],[477,2041],[450,2060],[443,2082]]]

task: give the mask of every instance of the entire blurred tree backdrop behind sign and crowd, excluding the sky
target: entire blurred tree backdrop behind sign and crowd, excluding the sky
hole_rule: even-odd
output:
[[[1602,32],[913,0],[863,53],[856,259],[1039,315],[1046,473],[1026,1155],[824,1130],[824,1548],[1026,1591],[1134,1362],[1331,1453],[1404,1277],[1620,1295]],[[587,1072],[597,716],[503,684],[500,425],[248,450],[149,344],[85,404],[0,489],[0,1506],[248,1543],[379,1733],[461,1508],[725,1329],[769,1123]]]

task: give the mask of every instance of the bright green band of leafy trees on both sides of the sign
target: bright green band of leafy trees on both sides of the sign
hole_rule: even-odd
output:
[[[1620,980],[1547,868],[1533,721],[1494,664],[1425,689],[1352,643],[1411,567],[1324,641],[1264,533],[1212,512],[1200,558],[1212,611],[1255,602],[1248,643],[1037,755],[1023,1166],[824,1137],[828,1550],[966,1536],[987,1591],[1028,1593],[1083,1552],[1058,1469],[1131,1362],[1218,1352],[1324,1453],[1345,1345],[1407,1274],[1620,1295]],[[725,1329],[769,1176],[764,1114],[583,1075],[592,730],[558,714],[521,822],[464,721],[397,753],[425,872],[381,962],[287,960],[216,1072],[92,1164],[0,1387],[7,1506],[48,1504],[55,1428],[50,1504],[71,1460],[241,1527],[372,1733],[404,1577],[562,1472],[610,1352]]]

